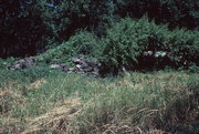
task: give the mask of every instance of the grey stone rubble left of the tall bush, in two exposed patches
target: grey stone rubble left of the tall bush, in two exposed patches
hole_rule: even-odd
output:
[[[34,56],[24,58],[15,61],[13,64],[8,65],[9,70],[24,70],[31,66],[38,66]],[[50,69],[61,70],[67,73],[85,73],[87,75],[98,75],[100,63],[95,59],[84,59],[84,58],[72,58],[71,61],[74,66],[69,66],[65,63],[51,64]]]

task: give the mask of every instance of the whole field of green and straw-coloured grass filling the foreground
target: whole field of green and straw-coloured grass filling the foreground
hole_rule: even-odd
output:
[[[0,70],[2,134],[197,134],[199,75]]]

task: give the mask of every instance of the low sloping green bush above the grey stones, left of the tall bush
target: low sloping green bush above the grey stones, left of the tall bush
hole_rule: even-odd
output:
[[[97,58],[103,49],[98,39],[91,32],[78,31],[61,45],[50,49],[38,56],[46,63],[70,63],[72,56],[83,55]]]

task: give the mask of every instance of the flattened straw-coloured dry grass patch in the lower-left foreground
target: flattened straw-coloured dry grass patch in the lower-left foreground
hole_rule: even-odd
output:
[[[38,117],[28,118],[25,131],[22,132],[22,134],[38,133],[42,130],[48,130],[46,132],[57,131],[59,127],[67,127],[64,130],[66,131],[64,133],[69,133],[70,122],[72,122],[81,111],[80,104],[80,99],[69,99],[64,101],[64,105],[62,106],[53,107],[53,110]],[[62,121],[67,122],[67,126],[60,126]]]

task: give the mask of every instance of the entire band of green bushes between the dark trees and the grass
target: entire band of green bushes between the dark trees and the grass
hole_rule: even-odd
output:
[[[145,53],[150,52],[150,55]],[[163,58],[156,53],[165,53]],[[166,68],[191,69],[199,65],[199,32],[187,29],[170,31],[144,17],[122,19],[97,38],[88,31],[78,31],[55,49],[39,55],[45,63],[69,63],[72,56],[98,59],[100,73],[117,74],[121,70],[155,71]]]

